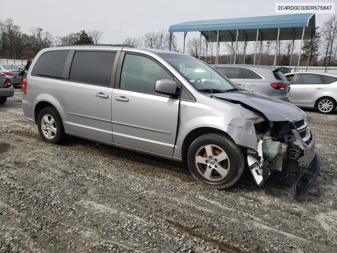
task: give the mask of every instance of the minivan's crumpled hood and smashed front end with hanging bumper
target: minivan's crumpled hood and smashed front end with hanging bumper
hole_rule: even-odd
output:
[[[304,158],[307,171],[300,175],[290,192],[295,199],[306,195],[314,185],[320,167],[306,114],[289,103],[244,90],[215,96],[256,115],[247,119],[253,120],[253,133],[257,139],[256,150],[247,148],[247,162],[256,184],[262,186],[272,171],[300,171],[298,160]]]

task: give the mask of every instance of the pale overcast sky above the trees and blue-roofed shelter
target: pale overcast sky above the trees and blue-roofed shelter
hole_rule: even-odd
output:
[[[321,1],[296,0],[296,2]],[[16,0],[9,3],[0,0],[0,20],[12,18],[25,33],[29,33],[30,28],[41,27],[54,37],[80,30],[102,30],[104,31],[102,44],[117,44],[126,37],[138,38],[147,32],[156,32],[162,28],[168,30],[170,25],[186,21],[275,15],[275,2],[292,1]],[[322,26],[330,15],[332,14],[316,14],[316,26]],[[200,36],[199,34],[187,33],[186,41]],[[179,47],[182,47],[183,33],[176,35]]]

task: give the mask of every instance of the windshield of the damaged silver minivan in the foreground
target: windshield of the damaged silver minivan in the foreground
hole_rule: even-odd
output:
[[[159,54],[177,69],[197,90],[231,90],[238,87],[210,65],[192,56]]]

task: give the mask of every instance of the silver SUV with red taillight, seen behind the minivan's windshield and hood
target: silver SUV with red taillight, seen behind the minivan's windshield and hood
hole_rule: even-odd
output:
[[[279,67],[250,64],[213,64],[240,88],[289,102],[289,82]]]

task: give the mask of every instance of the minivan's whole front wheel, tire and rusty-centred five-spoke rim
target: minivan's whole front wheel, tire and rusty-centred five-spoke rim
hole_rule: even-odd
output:
[[[245,160],[241,149],[225,135],[205,134],[190,145],[187,163],[195,179],[225,189],[240,179]]]

